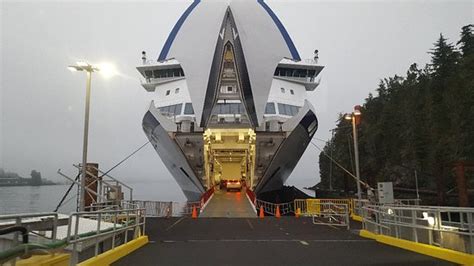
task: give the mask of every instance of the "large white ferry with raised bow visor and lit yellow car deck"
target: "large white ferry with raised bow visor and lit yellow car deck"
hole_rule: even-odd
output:
[[[137,69],[154,99],[143,129],[188,200],[222,179],[281,188],[316,132],[323,67],[263,1],[193,2]]]

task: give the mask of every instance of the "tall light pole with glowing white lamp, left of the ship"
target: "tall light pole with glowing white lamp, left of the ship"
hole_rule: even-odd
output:
[[[76,65],[68,66],[71,71],[85,71],[87,73],[86,81],[86,110],[84,115],[84,141],[82,146],[82,177],[81,177],[81,189],[79,190],[79,210],[84,211],[85,207],[85,196],[86,196],[86,176],[87,176],[87,143],[89,137],[89,109],[90,109],[90,97],[91,97],[91,79],[92,72],[99,71],[99,68],[94,67],[86,62],[77,62]]]

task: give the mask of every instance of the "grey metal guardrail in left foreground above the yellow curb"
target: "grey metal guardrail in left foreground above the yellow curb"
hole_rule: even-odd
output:
[[[83,223],[85,225],[82,225]],[[91,228],[91,224],[95,226],[95,229]],[[131,209],[75,212],[69,216],[64,215],[61,219],[60,215],[55,212],[0,215],[0,226],[12,225],[25,227],[28,234],[37,238],[34,241],[30,239],[30,243],[20,244],[19,233],[14,232],[11,247],[0,251],[0,263],[14,260],[18,256],[70,249],[72,253],[71,265],[76,265],[79,252],[90,246],[91,243],[95,246],[94,255],[97,256],[100,253],[100,243],[107,239],[111,238],[111,248],[114,248],[118,243],[116,243],[117,235],[123,235],[120,238],[120,244],[127,243],[129,238],[131,240],[143,235],[145,233],[145,210],[134,207]],[[58,238],[58,227],[61,225],[67,226],[67,228],[60,230],[63,238]],[[129,231],[133,231],[131,237],[129,237]]]

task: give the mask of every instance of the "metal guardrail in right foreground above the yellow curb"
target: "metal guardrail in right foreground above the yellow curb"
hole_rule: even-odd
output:
[[[474,208],[367,205],[369,232],[474,254]]]

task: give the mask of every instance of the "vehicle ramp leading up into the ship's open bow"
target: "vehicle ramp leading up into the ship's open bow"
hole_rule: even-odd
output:
[[[199,217],[256,218],[255,206],[246,194],[245,188],[240,192],[216,190]]]

